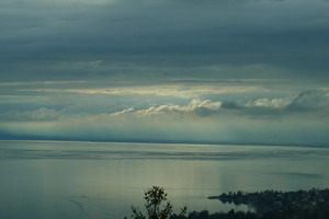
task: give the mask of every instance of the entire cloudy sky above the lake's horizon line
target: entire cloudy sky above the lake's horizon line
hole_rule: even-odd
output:
[[[0,139],[329,146],[328,0],[1,0]]]

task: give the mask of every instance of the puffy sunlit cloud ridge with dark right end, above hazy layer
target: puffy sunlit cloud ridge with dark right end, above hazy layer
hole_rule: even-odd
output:
[[[250,115],[252,117],[262,116],[288,116],[292,113],[300,113],[311,110],[314,114],[329,108],[327,93],[321,91],[304,91],[296,99],[258,99],[246,103],[234,102],[212,102],[211,100],[194,99],[188,105],[163,104],[148,108],[134,111],[127,108],[112,116],[160,116],[160,115],[196,115],[211,116],[214,114],[231,114],[236,116]]]

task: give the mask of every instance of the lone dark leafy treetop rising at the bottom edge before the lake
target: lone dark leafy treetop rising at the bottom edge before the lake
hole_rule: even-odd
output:
[[[168,194],[159,186],[152,186],[144,193],[147,216],[143,215],[138,207],[132,206],[134,219],[168,219],[172,215],[172,205],[167,200]],[[166,203],[164,203],[166,201]],[[164,204],[163,204],[164,203]],[[179,218],[184,218],[186,207],[181,209]],[[177,216],[177,215],[175,215]]]

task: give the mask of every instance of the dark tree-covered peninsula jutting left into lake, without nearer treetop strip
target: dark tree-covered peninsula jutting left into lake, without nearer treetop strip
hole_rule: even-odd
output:
[[[264,191],[256,193],[223,193],[219,196],[211,196],[209,199],[219,199],[222,203],[235,205],[249,205],[254,208],[257,215],[265,216],[275,214],[290,216],[288,218],[326,218],[329,216],[329,189],[313,188],[309,191],[277,192]],[[302,217],[303,216],[303,217]],[[265,217],[268,218],[268,217]]]

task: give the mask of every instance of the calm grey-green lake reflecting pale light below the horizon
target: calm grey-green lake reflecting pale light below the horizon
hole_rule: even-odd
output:
[[[177,211],[226,211],[207,197],[325,188],[328,166],[328,148],[0,141],[0,218],[129,218],[152,185]]]

